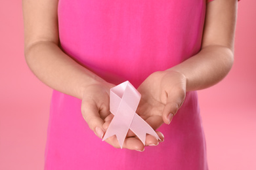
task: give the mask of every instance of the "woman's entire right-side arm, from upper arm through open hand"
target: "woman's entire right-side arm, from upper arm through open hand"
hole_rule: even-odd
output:
[[[169,124],[181,107],[186,92],[201,90],[221,81],[234,59],[237,0],[207,4],[202,50],[179,65],[148,76],[138,88],[142,100],[137,112],[157,129]],[[157,109],[154,110],[154,107]]]

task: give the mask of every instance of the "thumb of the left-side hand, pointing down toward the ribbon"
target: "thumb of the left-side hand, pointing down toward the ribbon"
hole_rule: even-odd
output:
[[[94,101],[82,101],[81,112],[90,129],[102,139],[104,135],[104,120],[100,117],[99,108]]]

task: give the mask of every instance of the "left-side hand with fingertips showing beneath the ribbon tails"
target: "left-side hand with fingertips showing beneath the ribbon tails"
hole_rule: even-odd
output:
[[[114,86],[114,84],[108,82],[97,82],[87,86],[83,91],[81,104],[83,118],[100,139],[106,132],[103,124],[109,121],[108,118],[112,114],[110,112],[110,88]],[[105,120],[105,118],[107,119]],[[156,141],[152,137],[147,137],[146,143],[152,143],[152,140]],[[105,141],[115,148],[120,148],[116,135],[109,137]],[[127,137],[123,143],[123,148],[143,151],[144,145],[137,137]]]

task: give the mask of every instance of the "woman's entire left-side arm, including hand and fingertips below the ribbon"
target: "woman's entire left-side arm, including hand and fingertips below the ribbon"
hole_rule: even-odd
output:
[[[58,44],[58,0],[24,0],[25,57],[33,73],[59,92],[82,100],[81,112],[98,137],[104,135],[104,118],[110,114],[109,92],[114,84],[98,77],[66,55]],[[84,95],[85,94],[85,95]],[[116,137],[107,143],[118,148]],[[146,143],[158,143],[148,139]],[[124,148],[143,150],[139,139],[125,139]]]

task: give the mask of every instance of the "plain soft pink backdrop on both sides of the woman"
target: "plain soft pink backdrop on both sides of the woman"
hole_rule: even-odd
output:
[[[256,169],[256,1],[239,3],[235,62],[199,92],[209,169]],[[0,5],[0,169],[43,169],[51,89],[24,59],[21,1]]]

